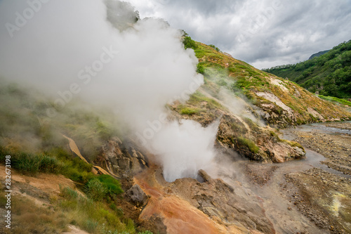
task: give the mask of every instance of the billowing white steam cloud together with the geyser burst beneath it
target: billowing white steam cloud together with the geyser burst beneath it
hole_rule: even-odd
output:
[[[179,30],[163,20],[132,25],[135,15],[121,14],[133,13],[130,5],[106,3],[0,1],[0,76],[47,91],[55,108],[79,96],[113,109],[132,135],[143,135],[168,100],[188,96],[203,78]],[[214,156],[214,127],[161,123],[153,135],[147,145],[159,155],[168,181],[195,177]]]

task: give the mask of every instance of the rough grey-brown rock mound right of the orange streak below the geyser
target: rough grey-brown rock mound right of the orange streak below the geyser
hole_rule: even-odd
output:
[[[195,205],[211,219],[225,226],[240,223],[249,230],[262,233],[274,233],[274,228],[265,211],[259,204],[245,202],[234,193],[234,189],[221,179],[211,179],[205,171],[199,175],[206,178],[206,183],[193,183],[191,197]],[[182,181],[173,183],[182,188]]]

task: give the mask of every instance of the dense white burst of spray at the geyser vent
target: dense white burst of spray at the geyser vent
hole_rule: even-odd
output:
[[[217,129],[218,123],[203,128],[186,119],[165,124],[150,141],[150,149],[161,160],[166,181],[196,178],[197,171],[211,163],[216,155],[213,143]]]

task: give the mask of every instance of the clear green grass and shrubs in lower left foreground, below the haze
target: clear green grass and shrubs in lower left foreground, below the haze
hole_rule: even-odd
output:
[[[32,228],[30,230],[37,230],[37,233],[55,233],[55,230],[65,230],[65,226],[71,223],[89,233],[135,233],[133,221],[125,219],[123,210],[116,206],[121,199],[117,195],[123,193],[123,190],[119,181],[112,176],[95,176],[91,173],[91,164],[86,164],[79,158],[72,159],[62,148],[53,148],[43,154],[33,154],[10,151],[0,146],[1,163],[5,162],[6,155],[11,155],[11,166],[14,169],[28,176],[36,176],[39,173],[60,173],[74,181],[85,183],[81,188],[84,188],[88,197],[79,195],[72,188],[61,188],[60,198],[51,199],[55,212],[31,205],[29,209],[31,214],[24,212],[27,211],[24,207],[25,203],[32,204],[32,202],[15,199],[13,214],[16,215],[14,218],[16,221],[21,221],[20,226],[29,226]],[[17,209],[16,205],[20,208]],[[34,216],[50,216],[52,219],[40,220]],[[39,227],[33,226],[30,222],[39,224]],[[15,230],[20,233],[23,229],[15,228]]]

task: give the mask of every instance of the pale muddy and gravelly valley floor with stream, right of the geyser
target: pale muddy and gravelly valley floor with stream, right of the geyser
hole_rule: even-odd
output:
[[[281,132],[304,146],[305,159],[283,164],[239,159],[220,164],[211,176],[223,178],[248,204],[260,204],[276,233],[351,233],[351,123]]]

